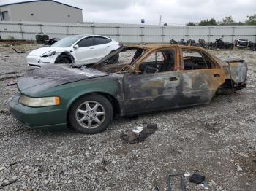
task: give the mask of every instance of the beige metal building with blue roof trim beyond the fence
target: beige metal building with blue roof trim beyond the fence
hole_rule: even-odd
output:
[[[53,0],[25,1],[0,5],[1,21],[82,23],[82,9]]]

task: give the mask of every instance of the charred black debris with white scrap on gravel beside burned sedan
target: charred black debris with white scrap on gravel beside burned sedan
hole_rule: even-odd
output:
[[[148,124],[145,128],[137,127],[135,129],[129,129],[125,133],[121,133],[121,140],[134,144],[141,141],[144,141],[148,136],[154,134],[157,130],[157,124],[151,123]]]

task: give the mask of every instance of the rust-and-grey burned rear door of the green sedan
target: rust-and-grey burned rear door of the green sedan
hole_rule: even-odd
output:
[[[203,50],[181,50],[181,106],[207,104],[225,82],[225,73]]]

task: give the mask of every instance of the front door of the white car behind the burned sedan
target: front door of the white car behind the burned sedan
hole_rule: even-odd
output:
[[[96,50],[94,49],[94,39],[92,36],[80,40],[77,44],[78,47],[74,49],[76,64],[89,64],[97,61]]]

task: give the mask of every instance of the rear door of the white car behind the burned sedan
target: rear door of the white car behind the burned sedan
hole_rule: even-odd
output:
[[[110,52],[110,39],[102,36],[94,36],[94,49],[96,50],[97,61],[108,55]]]

